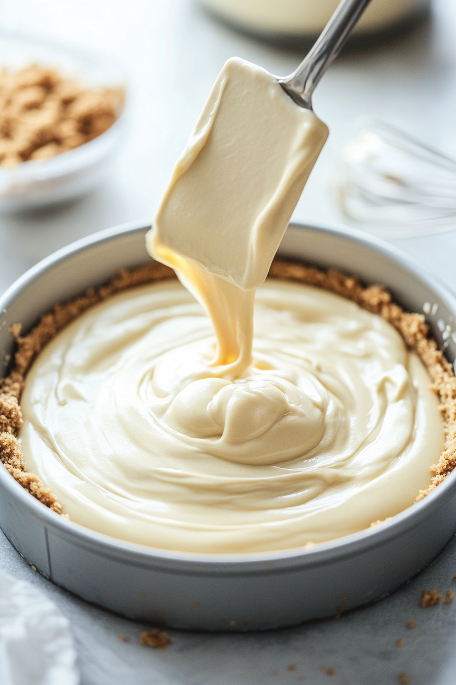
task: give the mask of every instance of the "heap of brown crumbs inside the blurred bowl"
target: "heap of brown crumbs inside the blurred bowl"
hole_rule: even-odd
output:
[[[0,165],[46,160],[83,145],[118,119],[123,100],[122,88],[85,88],[48,66],[4,67]]]

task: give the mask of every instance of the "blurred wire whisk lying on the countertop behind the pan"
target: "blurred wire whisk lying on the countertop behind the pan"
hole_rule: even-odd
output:
[[[346,216],[384,236],[456,228],[456,160],[382,121],[358,123],[339,190]]]

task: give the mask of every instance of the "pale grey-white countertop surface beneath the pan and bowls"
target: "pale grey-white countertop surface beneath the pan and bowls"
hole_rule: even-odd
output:
[[[0,216],[0,291],[68,242],[152,215],[226,58],[239,55],[286,74],[302,56],[233,32],[190,0],[3,0],[0,28],[109,53],[128,75],[131,103],[124,147],[101,186],[61,208]],[[341,55],[319,85],[314,109],[331,138],[295,219],[343,221],[334,169],[361,114],[396,123],[456,156],[455,1],[436,0],[430,21],[387,45]],[[393,242],[456,288],[456,230]],[[392,597],[338,621],[241,636],[170,631],[172,645],[163,651],[139,644],[143,625],[44,580],[3,536],[0,566],[40,586],[68,616],[83,685],[317,684],[328,677],[334,685],[386,685],[399,682],[402,671],[412,685],[456,682],[456,601],[419,607],[423,588],[456,584],[456,540]],[[413,630],[405,625],[409,620],[416,621]]]

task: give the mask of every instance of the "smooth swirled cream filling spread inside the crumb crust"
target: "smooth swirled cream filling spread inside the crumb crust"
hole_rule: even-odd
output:
[[[95,306],[29,372],[27,468],[73,521],[175,550],[298,547],[410,506],[443,429],[401,336],[275,279],[256,293],[254,331],[252,364],[232,379],[178,281]]]

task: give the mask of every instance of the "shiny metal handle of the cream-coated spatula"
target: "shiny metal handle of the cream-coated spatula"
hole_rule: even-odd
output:
[[[351,29],[371,0],[342,0],[296,71],[278,82],[300,107],[312,109],[315,86],[344,47]]]

